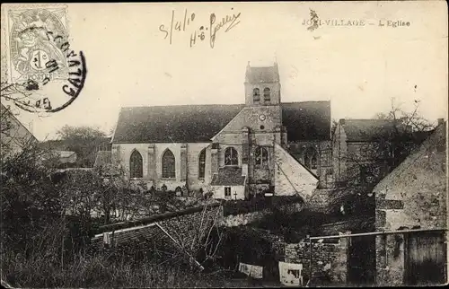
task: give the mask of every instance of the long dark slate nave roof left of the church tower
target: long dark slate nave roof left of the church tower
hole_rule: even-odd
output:
[[[242,108],[242,104],[122,108],[112,143],[209,142]]]

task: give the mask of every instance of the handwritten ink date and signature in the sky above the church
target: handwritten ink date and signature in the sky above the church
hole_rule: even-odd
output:
[[[231,8],[233,10],[233,8]],[[184,10],[184,16],[180,20],[176,20],[176,13],[172,11],[172,20],[170,25],[161,24],[159,31],[163,32],[163,39],[169,39],[169,43],[173,43],[173,36],[189,30],[195,21],[195,13],[188,13]],[[224,17],[217,17],[216,13],[210,13],[207,25],[199,25],[198,30],[193,29],[190,32],[190,48],[195,46],[198,41],[209,39],[210,48],[214,48],[216,44],[216,35],[218,31],[228,32],[240,23],[241,13],[229,13]],[[218,33],[219,34],[219,33]]]

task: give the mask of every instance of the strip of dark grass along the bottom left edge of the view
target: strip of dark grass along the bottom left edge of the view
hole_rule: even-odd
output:
[[[180,266],[155,266],[127,260],[110,262],[106,257],[79,255],[70,264],[45,258],[22,259],[19,255],[2,258],[2,279],[14,287],[209,287],[225,280],[188,272]]]

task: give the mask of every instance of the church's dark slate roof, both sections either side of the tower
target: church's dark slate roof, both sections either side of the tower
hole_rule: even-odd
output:
[[[282,103],[288,141],[329,140],[330,101]],[[244,104],[122,108],[114,144],[210,142]]]

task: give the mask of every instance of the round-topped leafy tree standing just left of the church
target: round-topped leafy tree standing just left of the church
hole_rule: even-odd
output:
[[[58,132],[66,149],[76,153],[78,167],[91,168],[101,145],[109,142],[106,135],[94,127],[64,126]]]

